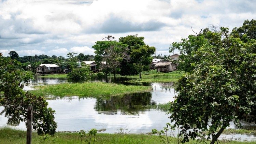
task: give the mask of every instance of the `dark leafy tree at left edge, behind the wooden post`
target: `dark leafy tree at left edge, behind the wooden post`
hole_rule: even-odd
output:
[[[0,53],[0,106],[8,117],[8,124],[18,125],[25,122],[27,107],[33,106],[33,129],[38,134],[54,134],[57,124],[54,121],[55,111],[41,96],[34,96],[23,90],[24,85],[33,78],[33,74],[22,70],[22,64],[16,60],[5,58]]]

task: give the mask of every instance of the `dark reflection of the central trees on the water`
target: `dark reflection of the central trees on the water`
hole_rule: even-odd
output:
[[[152,101],[151,92],[144,92],[133,93],[123,97],[97,98],[94,109],[99,114],[120,111],[121,114],[137,115],[143,114],[144,111],[149,109],[148,106],[151,105],[156,105],[156,102]]]

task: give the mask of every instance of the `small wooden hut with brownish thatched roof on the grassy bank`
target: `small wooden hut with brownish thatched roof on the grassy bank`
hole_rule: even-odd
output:
[[[154,68],[157,72],[171,72],[176,70],[176,66],[173,62],[158,62]]]

